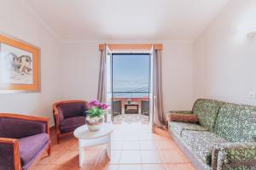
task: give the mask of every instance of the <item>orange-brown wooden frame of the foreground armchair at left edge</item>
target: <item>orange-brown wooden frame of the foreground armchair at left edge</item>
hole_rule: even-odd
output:
[[[14,119],[20,119],[20,120],[26,120],[26,121],[34,121],[34,122],[44,122],[46,124],[45,132],[48,133],[49,135],[49,118],[38,117],[38,116],[25,116],[25,115],[13,114],[13,113],[0,113],[0,117],[14,118]],[[21,170],[19,139],[0,138],[0,143],[13,144],[14,164],[15,164],[14,167],[15,167],[15,170]],[[48,156],[50,156],[50,143],[49,143],[49,147],[46,148],[45,151],[47,151]],[[41,158],[42,156],[38,156],[38,158],[32,163],[29,169],[32,169]]]

